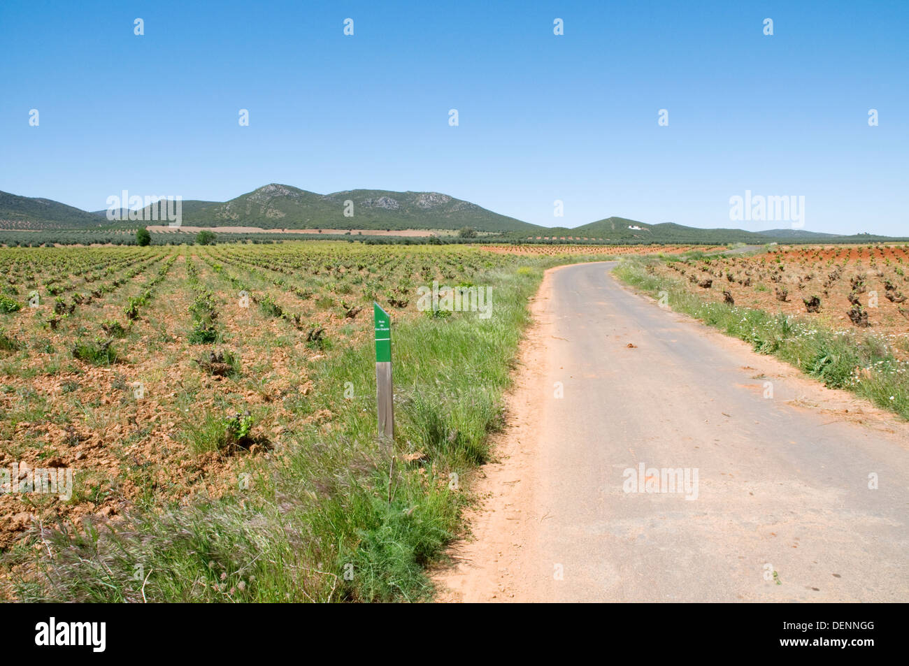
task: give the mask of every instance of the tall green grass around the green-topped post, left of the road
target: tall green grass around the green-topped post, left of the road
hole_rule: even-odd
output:
[[[595,257],[602,260],[602,256]],[[134,508],[107,528],[47,532],[53,553],[16,570],[21,601],[422,601],[425,568],[462,529],[464,481],[489,457],[528,322],[555,258],[476,273],[493,316],[393,318],[394,442],[375,435],[371,340],[307,363],[316,390],[270,461],[246,459],[219,499]],[[207,309],[207,308],[206,308]],[[394,317],[393,313],[393,317]],[[198,320],[197,320],[198,321]],[[331,413],[330,421],[318,414]],[[86,411],[86,414],[88,412]],[[94,414],[97,417],[97,414]],[[245,430],[217,410],[187,414],[184,442],[222,452]],[[91,492],[105,492],[93,485]],[[137,572],[139,572],[137,574]]]

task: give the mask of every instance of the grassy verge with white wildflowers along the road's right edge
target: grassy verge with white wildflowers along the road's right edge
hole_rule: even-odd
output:
[[[825,386],[852,391],[909,420],[909,363],[897,360],[874,334],[834,330],[807,317],[704,302],[684,282],[648,273],[647,263],[627,259],[614,274],[646,293],[665,292],[675,311],[750,343],[757,353],[773,354]]]

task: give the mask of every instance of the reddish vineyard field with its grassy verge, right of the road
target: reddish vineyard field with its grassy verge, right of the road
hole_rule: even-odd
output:
[[[909,246],[772,247],[624,263],[661,303],[909,419]]]

